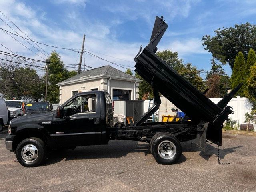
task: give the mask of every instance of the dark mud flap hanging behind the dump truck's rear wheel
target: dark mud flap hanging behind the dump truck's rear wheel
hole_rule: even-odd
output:
[[[196,126],[196,145],[201,151],[205,151],[205,140],[208,124],[208,122],[200,122],[198,126]]]

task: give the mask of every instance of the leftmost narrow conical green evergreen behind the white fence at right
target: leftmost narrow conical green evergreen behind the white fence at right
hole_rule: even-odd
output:
[[[232,75],[230,78],[230,86],[232,89],[236,88],[238,84],[245,82],[245,60],[242,52],[238,52],[236,56],[236,60],[234,62],[234,68],[232,71]],[[240,95],[241,97],[245,96],[245,86],[243,85],[240,90],[236,93],[236,95]]]

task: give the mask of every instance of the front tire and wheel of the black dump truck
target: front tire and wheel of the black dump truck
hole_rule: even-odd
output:
[[[36,167],[46,158],[46,146],[39,138],[24,139],[16,148],[16,158],[24,167]]]

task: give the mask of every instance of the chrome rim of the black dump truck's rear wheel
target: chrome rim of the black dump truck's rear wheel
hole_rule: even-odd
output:
[[[170,141],[162,141],[158,145],[158,154],[163,159],[172,159],[176,154],[176,146],[173,142]]]

